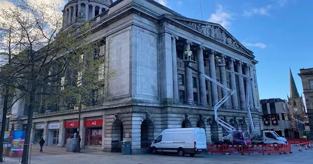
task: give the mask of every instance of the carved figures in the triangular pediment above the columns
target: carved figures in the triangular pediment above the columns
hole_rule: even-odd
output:
[[[249,54],[237,41],[232,39],[232,37],[229,36],[227,32],[225,32],[219,26],[188,21],[179,21],[179,22],[194,30],[201,32],[202,34],[208,37],[213,38],[214,40],[221,41],[224,44],[231,46],[232,48],[235,48],[243,53]]]

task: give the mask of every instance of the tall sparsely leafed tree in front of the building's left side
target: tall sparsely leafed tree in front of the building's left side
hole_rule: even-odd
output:
[[[95,105],[99,97],[105,96],[98,93],[108,89],[101,84],[110,81],[115,72],[106,68],[108,59],[99,49],[104,41],[90,42],[92,33],[88,21],[79,28],[64,31],[62,14],[55,4],[20,0],[15,5],[15,8],[0,8],[0,15],[13,29],[9,35],[0,29],[0,34],[5,40],[14,41],[14,50],[2,53],[1,58],[8,60],[3,60],[0,83],[4,88],[18,90],[28,105],[22,155],[22,163],[26,164],[36,105],[57,103],[71,107],[71,102],[77,99]],[[2,46],[10,47],[5,40],[1,40]],[[103,73],[104,78],[99,78],[102,69],[107,71]]]

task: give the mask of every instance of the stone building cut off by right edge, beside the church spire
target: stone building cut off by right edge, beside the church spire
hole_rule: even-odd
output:
[[[310,129],[313,129],[313,68],[300,69],[298,75],[301,77],[303,94],[307,104],[307,114]],[[310,130],[310,137],[313,137],[313,130]]]

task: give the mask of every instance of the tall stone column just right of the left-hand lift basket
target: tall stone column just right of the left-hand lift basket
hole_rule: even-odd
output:
[[[198,71],[200,71],[201,73],[204,73],[203,50],[205,50],[205,48],[202,45],[200,45],[197,48]],[[198,78],[199,78],[200,104],[205,105],[207,104],[205,78],[200,74],[198,74]]]

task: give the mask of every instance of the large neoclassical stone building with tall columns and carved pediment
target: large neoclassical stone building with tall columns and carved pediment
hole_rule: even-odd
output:
[[[195,54],[192,67],[236,91],[219,108],[219,117],[237,130],[250,131],[246,85],[242,77],[224,68],[253,77],[248,103],[257,133],[263,129],[255,68],[258,62],[220,24],[183,17],[154,0],[69,0],[64,30],[78,28],[79,21],[89,19],[91,41],[105,38],[110,68],[117,70],[109,84],[109,98],[82,110],[81,120],[72,109],[39,112],[33,119],[33,142],[43,136],[47,144],[64,146],[78,121],[81,146],[104,151],[115,151],[121,141],[131,141],[133,154],[146,152],[166,128],[202,127],[208,143],[221,141],[227,132],[213,120],[213,105],[224,92],[184,68],[185,50]],[[215,55],[226,59],[225,67],[215,65]],[[12,109],[10,126],[14,129],[22,129],[26,123],[22,110],[22,102]]]

